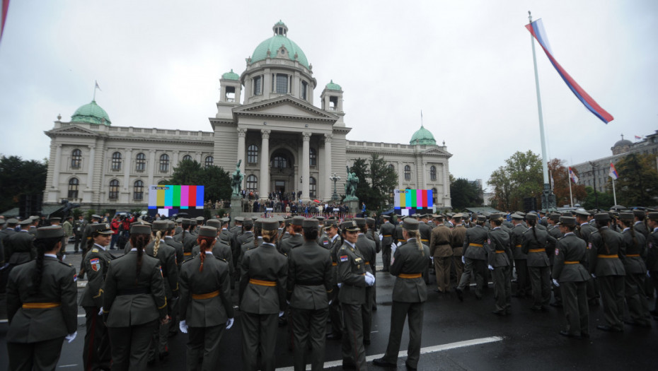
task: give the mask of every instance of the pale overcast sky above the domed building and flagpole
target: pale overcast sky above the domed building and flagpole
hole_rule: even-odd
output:
[[[582,163],[658,129],[658,1],[14,0],[0,41],[0,153],[47,157],[57,114],[91,101],[112,125],[211,131],[219,78],[279,19],[313,64],[315,101],[344,90],[347,139],[425,128],[454,177],[541,154],[528,11],[558,62],[615,119],[591,114],[537,47],[548,158]],[[386,5],[388,3],[388,5]]]

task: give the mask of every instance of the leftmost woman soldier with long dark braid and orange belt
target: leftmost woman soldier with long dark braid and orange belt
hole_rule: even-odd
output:
[[[37,258],[9,275],[8,370],[54,370],[64,338],[70,343],[76,337],[76,270],[57,259],[63,236],[59,226],[37,229]]]

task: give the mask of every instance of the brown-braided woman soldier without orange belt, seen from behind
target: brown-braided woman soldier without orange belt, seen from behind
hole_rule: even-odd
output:
[[[132,249],[112,261],[105,278],[103,319],[112,348],[112,371],[146,370],[156,322],[166,324],[167,300],[160,261],[144,254],[150,225],[130,227]]]

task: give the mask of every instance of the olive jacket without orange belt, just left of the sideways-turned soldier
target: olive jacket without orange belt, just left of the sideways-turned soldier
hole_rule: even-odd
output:
[[[315,241],[304,242],[288,254],[288,300],[303,310],[329,307],[333,291],[329,250]]]

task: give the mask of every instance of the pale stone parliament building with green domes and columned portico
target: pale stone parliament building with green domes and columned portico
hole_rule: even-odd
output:
[[[144,208],[149,185],[170,178],[185,159],[229,172],[239,163],[243,188],[261,199],[301,192],[302,201],[328,201],[330,177],[343,182],[354,159],[377,153],[398,172],[398,188],[433,189],[434,204],[451,208],[445,143],[437,146],[422,126],[408,145],[348,140],[341,86],[327,83],[316,107],[312,64],[284,23],[272,30],[241,75],[231,69],[221,76],[212,131],[113,126],[96,102],[76,110],[70,122],[58,117],[45,132],[51,139],[45,204],[68,199],[83,207]]]

